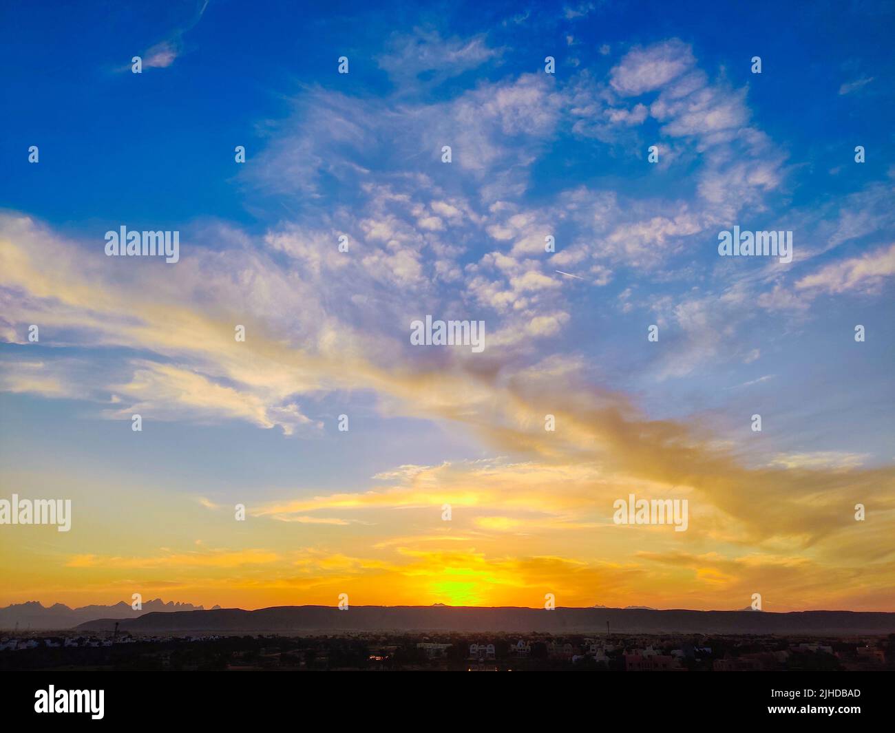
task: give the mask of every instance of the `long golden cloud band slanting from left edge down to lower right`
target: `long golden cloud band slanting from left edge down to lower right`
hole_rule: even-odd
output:
[[[513,362],[511,350],[499,351],[490,370],[469,362],[468,355],[438,363],[416,362],[413,356],[419,352],[409,346],[396,349],[388,340],[383,344],[378,331],[349,338],[354,329],[346,325],[351,320],[348,314],[344,321],[334,320],[332,313],[320,319],[317,311],[303,310],[299,304],[317,300],[309,296],[316,291],[304,289],[315,282],[313,277],[304,283],[294,275],[285,276],[257,253],[250,256],[238,248],[226,254],[197,250],[173,268],[145,267],[152,263],[133,260],[124,262],[124,268],[110,268],[109,260],[98,259],[101,254],[87,255],[27,219],[7,217],[2,223],[3,286],[25,294],[21,303],[42,303],[46,310],[41,318],[47,328],[76,321],[86,345],[141,350],[141,359],[128,361],[135,367],[130,381],[105,385],[107,394],[120,397],[118,405],[126,407],[124,414],[140,409],[171,418],[217,416],[262,427],[278,424],[288,431],[311,420],[290,406],[302,396],[366,389],[377,396],[383,415],[451,424],[478,436],[492,449],[528,459],[516,467],[413,467],[405,469],[412,481],[407,485],[296,499],[262,507],[257,516],[430,507],[433,502],[490,506],[502,509],[503,516],[507,507],[561,514],[582,510],[592,501],[593,487],[607,481],[612,485],[610,477],[618,474],[628,485],[655,482],[688,487],[720,512],[737,517],[744,526],[742,536],[749,541],[778,538],[802,546],[821,541],[841,527],[834,507],[817,500],[818,491],[830,490],[837,501],[874,496],[882,502],[880,506],[885,502],[880,491],[891,482],[890,469],[856,469],[843,482],[839,475],[808,468],[748,468],[736,455],[713,447],[712,439],[700,434],[698,424],[651,420],[628,397],[590,384],[580,367],[553,379],[552,369],[522,369],[522,364]],[[101,251],[99,245],[97,251]],[[887,251],[891,255],[891,248]],[[39,266],[35,252],[41,253]],[[557,290],[551,286],[541,291],[539,277],[525,275],[516,260],[509,260],[503,267],[510,279],[518,278],[517,286],[530,282],[535,286],[533,293]],[[499,258],[493,261],[499,268]],[[47,267],[47,262],[54,265]],[[221,269],[224,263],[226,268]],[[846,268],[846,281],[857,277],[854,271],[851,265]],[[247,272],[252,279],[242,275]],[[878,275],[879,268],[859,272]],[[264,290],[256,296],[253,290],[260,284],[253,285],[252,280],[260,273]],[[364,282],[359,270],[355,285],[363,288]],[[151,293],[152,299],[144,301],[134,293]],[[678,307],[675,318],[693,335],[696,357],[703,356],[705,349],[720,348],[722,342],[712,337],[712,329],[726,333],[730,324],[725,320],[732,313],[745,312],[740,304],[747,297],[747,291],[732,289],[720,300],[706,297]],[[279,307],[270,308],[268,303]],[[288,307],[290,303],[295,303],[294,308]],[[726,303],[725,310],[719,310],[718,303]],[[291,315],[281,328],[288,323],[288,330],[269,337],[276,323],[271,314],[284,310]],[[226,315],[231,311],[232,315]],[[210,312],[216,316],[212,318]],[[239,320],[235,313],[240,313]],[[15,311],[6,317],[13,324],[21,323],[22,316]],[[524,336],[550,336],[566,319],[562,312],[541,312],[499,329],[496,335],[508,344],[519,343]],[[245,346],[251,344],[251,348],[234,342],[233,323],[240,321],[248,323]],[[118,375],[121,370],[111,373]],[[64,374],[78,377],[74,370]],[[120,412],[117,407],[115,411]],[[561,426],[555,434],[543,430],[547,413],[554,414]],[[558,484],[566,490],[543,490]]]

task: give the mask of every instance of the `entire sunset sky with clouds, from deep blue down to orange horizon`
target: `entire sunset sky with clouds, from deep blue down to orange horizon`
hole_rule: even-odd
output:
[[[0,603],[895,611],[892,30],[4,4]]]

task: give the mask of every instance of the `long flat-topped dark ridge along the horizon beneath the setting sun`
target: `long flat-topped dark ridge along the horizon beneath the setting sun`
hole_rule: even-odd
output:
[[[697,611],[654,609],[520,609],[462,606],[280,606],[147,613],[121,622],[133,632],[465,631],[702,634],[890,634],[895,613],[857,611]],[[115,619],[81,624],[106,630]]]

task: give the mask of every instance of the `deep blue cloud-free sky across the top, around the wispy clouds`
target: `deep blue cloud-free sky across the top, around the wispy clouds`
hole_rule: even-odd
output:
[[[7,6],[0,59],[6,103],[15,110],[5,115],[4,158],[21,161],[13,151],[39,139],[50,169],[42,168],[38,179],[27,160],[21,162],[15,177],[4,178],[4,201],[58,224],[83,221],[85,209],[156,221],[161,209],[172,221],[208,216],[264,226],[266,219],[259,222],[248,210],[251,191],[234,175],[233,141],[243,141],[250,157],[257,154],[268,125],[289,115],[303,89],[388,98],[396,83],[377,58],[387,53],[389,38],[414,28],[444,38],[486,34],[482,44],[499,48],[490,63],[414,89],[406,96],[414,101],[446,100],[483,81],[536,72],[544,55],[557,58],[561,85],[585,69],[608,72],[631,45],[681,38],[701,68],[723,75],[734,89],[747,87],[754,124],[805,166],[802,185],[791,192],[794,203],[854,191],[866,177],[884,177],[889,165],[885,156],[870,155],[865,168],[845,175],[816,183],[809,175],[818,167],[826,172],[837,158],[850,159],[853,138],[877,150],[889,141],[891,95],[884,79],[892,72],[891,8],[885,3],[822,3],[812,13],[779,3],[723,9],[595,4],[585,13],[584,4],[581,15],[557,4],[434,4],[414,12],[412,4],[299,10],[259,3],[247,13],[240,4],[218,3],[198,21],[201,4],[121,4],[114,13],[107,4],[57,5]],[[132,55],[164,42],[178,47],[175,63],[141,75],[139,87],[117,72]],[[601,55],[604,44],[618,45]],[[761,77],[748,63],[759,53]],[[347,77],[337,74],[333,61],[343,54],[352,56]],[[842,84],[874,74],[875,84],[838,94]],[[648,121],[644,134],[658,126]],[[537,166],[544,184],[559,180],[566,187],[571,175],[575,181],[628,182],[644,192],[639,150],[584,146],[561,132]],[[175,166],[178,175],[172,175]],[[134,171],[139,180],[123,186]],[[75,177],[81,185],[72,190]],[[47,195],[51,186],[57,195]]]

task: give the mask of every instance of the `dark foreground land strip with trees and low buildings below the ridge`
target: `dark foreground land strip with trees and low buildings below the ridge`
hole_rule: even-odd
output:
[[[13,648],[9,648],[15,642]],[[0,670],[895,669],[895,634],[544,635],[345,633],[142,635],[64,632],[4,639]]]

